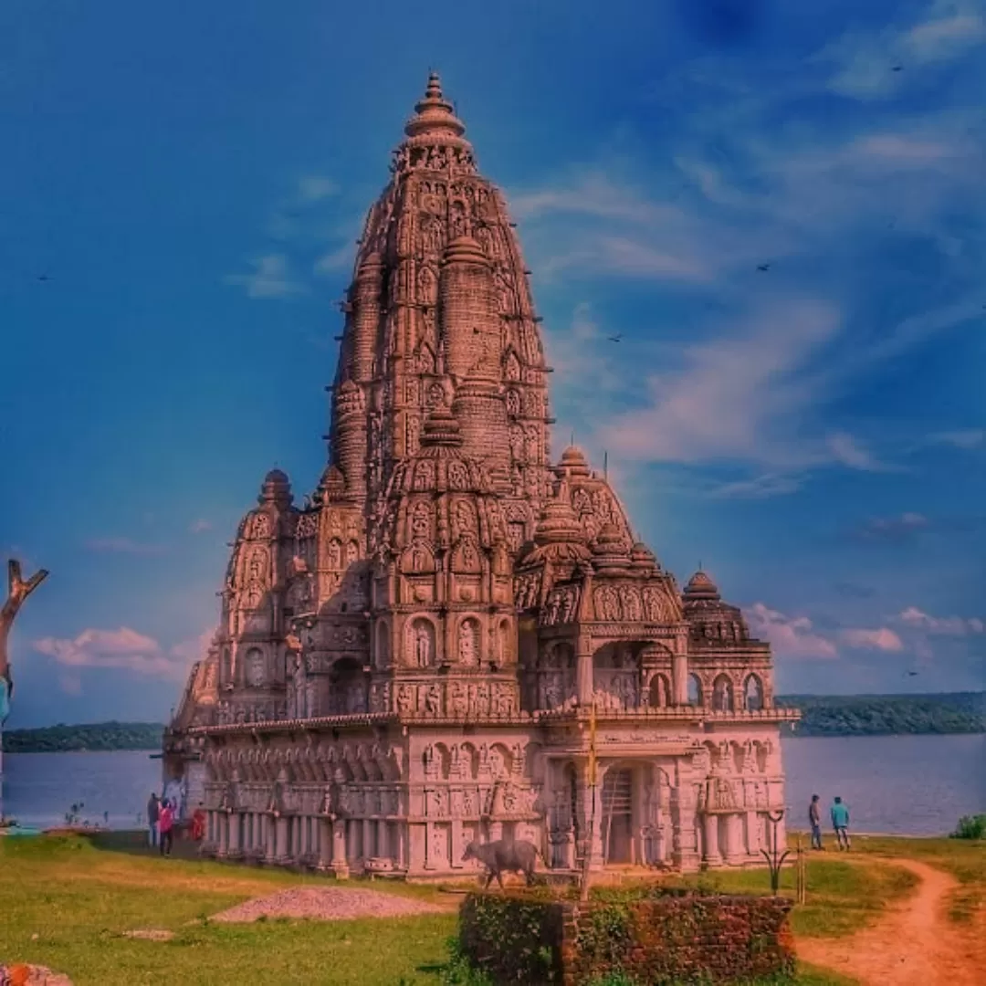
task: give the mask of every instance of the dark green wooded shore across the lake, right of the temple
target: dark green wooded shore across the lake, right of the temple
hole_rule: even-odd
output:
[[[802,710],[790,735],[863,737],[986,733],[986,692],[930,695],[783,695],[778,705]]]

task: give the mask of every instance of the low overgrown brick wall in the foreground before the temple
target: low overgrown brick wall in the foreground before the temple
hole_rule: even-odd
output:
[[[660,888],[600,891],[588,904],[548,894],[471,893],[460,948],[498,983],[588,986],[612,972],[640,984],[733,983],[792,975],[783,897]]]

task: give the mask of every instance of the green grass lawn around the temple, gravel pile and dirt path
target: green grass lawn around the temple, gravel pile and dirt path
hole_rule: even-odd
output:
[[[885,843],[885,844],[884,844]],[[854,846],[855,848],[855,846]],[[880,860],[911,856],[950,869],[974,888],[984,878],[981,847],[950,840],[868,840],[873,859],[810,858],[809,902],[793,912],[795,933],[844,935],[875,918],[914,878]],[[710,888],[767,892],[767,873],[716,872]],[[785,892],[794,875],[784,874]],[[203,921],[250,897],[287,885],[325,882],[278,870],[168,859],[123,839],[0,838],[0,961],[30,961],[69,974],[76,986],[155,983],[299,983],[398,986],[441,983],[437,968],[456,932],[454,913],[344,922],[297,920],[228,925]],[[362,880],[352,885],[369,885]],[[375,882],[375,888],[434,902],[458,897],[438,887]],[[176,933],[169,942],[122,937],[134,929]],[[804,969],[810,986],[849,980]]]

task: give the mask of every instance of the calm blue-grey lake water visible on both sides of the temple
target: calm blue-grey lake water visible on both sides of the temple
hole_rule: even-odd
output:
[[[827,807],[840,795],[857,832],[941,835],[959,815],[986,811],[986,736],[798,737],[783,740],[788,805],[805,827],[812,794]],[[8,753],[4,811],[22,824],[64,821],[73,802],[83,817],[133,828],[161,761],[146,750],[114,753]]]

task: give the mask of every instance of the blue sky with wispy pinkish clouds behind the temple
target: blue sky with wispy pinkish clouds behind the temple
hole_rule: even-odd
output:
[[[0,547],[51,570],[10,725],[167,715],[264,471],[314,486],[430,67],[519,222],[555,454],[608,453],[782,690],[982,687],[981,0],[7,0],[0,65]]]

